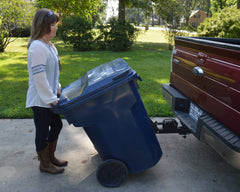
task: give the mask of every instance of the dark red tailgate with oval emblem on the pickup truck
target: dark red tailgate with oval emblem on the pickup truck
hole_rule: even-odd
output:
[[[192,39],[175,38],[170,83],[240,136],[240,46]]]

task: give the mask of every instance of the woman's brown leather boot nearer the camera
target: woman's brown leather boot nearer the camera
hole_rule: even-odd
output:
[[[64,168],[56,167],[53,165],[49,158],[49,146],[45,147],[40,152],[37,152],[38,158],[40,160],[40,171],[51,173],[51,174],[58,174],[64,171]]]

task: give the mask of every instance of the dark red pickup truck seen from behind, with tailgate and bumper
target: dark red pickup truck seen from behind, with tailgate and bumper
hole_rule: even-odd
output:
[[[175,37],[162,94],[183,127],[240,169],[240,39]]]

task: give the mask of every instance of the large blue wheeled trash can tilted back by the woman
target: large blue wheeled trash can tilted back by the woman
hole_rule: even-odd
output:
[[[100,65],[62,89],[54,111],[83,127],[103,164],[98,181],[119,186],[128,171],[154,166],[162,151],[138,93],[138,74],[118,58]]]

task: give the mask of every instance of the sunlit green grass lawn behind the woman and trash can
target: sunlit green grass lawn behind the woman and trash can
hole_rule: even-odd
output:
[[[0,118],[32,118],[25,108],[28,88],[28,38],[18,38],[0,53]],[[62,87],[80,78],[90,69],[116,58],[124,59],[143,79],[139,92],[149,116],[172,116],[162,97],[161,84],[169,82],[171,51],[160,31],[142,32],[127,52],[74,52],[58,39],[53,40],[61,58]]]

